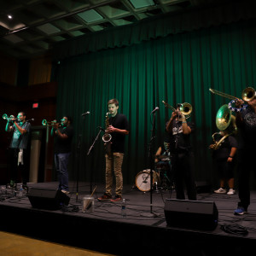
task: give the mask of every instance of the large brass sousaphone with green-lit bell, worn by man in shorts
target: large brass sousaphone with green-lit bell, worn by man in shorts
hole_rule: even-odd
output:
[[[228,133],[224,135],[219,141],[215,140],[217,135],[221,132],[215,132],[212,134],[213,144],[210,148],[213,150],[218,149],[224,142],[225,138],[229,137],[231,134],[236,133],[236,118],[231,114],[231,110],[227,104],[223,105],[218,109],[216,114],[216,126],[220,131],[227,131]]]

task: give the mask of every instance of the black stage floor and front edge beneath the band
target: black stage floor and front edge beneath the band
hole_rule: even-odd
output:
[[[256,242],[255,191],[251,193],[248,214],[243,216],[233,214],[237,194],[199,193],[198,201],[214,202],[218,209],[216,229],[201,230],[166,224],[166,199],[175,199],[175,191],[159,189],[150,195],[126,185],[125,218],[121,215],[120,201],[95,199],[94,211],[83,212],[83,198],[90,195],[95,186],[93,196],[97,198],[104,191],[102,184],[71,182],[69,203],[57,210],[32,207],[27,195],[19,198],[14,190],[1,186],[0,229],[115,255],[239,255],[250,252]],[[55,182],[29,184],[30,191],[55,191],[56,188]]]

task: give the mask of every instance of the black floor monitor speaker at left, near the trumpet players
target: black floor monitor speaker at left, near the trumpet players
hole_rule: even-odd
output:
[[[34,208],[58,210],[68,205],[69,196],[56,189],[30,188],[27,197]]]

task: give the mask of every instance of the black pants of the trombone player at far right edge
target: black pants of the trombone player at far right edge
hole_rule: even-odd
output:
[[[238,151],[238,207],[247,207],[250,205],[250,174],[255,171],[255,148],[248,148]]]

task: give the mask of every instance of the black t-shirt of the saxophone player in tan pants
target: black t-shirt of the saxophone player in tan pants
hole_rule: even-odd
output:
[[[114,128],[129,131],[129,123],[123,113],[117,113],[114,117],[110,117],[109,125],[113,125]],[[112,132],[111,136],[111,151],[125,153],[125,134]]]

